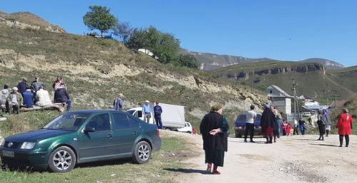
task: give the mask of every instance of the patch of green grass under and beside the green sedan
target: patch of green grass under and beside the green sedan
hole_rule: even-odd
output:
[[[177,174],[165,169],[183,168],[179,155],[187,149],[186,142],[178,137],[162,137],[161,150],[155,152],[148,164],[134,164],[130,160],[96,162],[80,165],[71,172],[59,174],[51,172],[1,171],[0,182],[51,183],[51,182],[173,182]]]

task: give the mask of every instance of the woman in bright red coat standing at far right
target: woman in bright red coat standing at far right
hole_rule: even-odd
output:
[[[350,137],[348,135],[351,135],[352,122],[353,119],[352,116],[348,114],[348,109],[343,108],[336,125],[336,127],[338,127],[338,135],[340,135],[340,147],[342,147],[343,144],[343,136],[345,136],[346,147],[348,147],[350,142]]]

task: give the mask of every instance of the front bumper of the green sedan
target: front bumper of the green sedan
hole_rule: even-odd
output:
[[[14,157],[4,156],[4,150],[14,152]],[[48,166],[47,152],[36,152],[34,150],[19,150],[0,147],[0,157],[4,164],[11,167],[29,166],[36,169],[46,169]]]

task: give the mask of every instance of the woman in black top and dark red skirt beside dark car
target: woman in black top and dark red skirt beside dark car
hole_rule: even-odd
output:
[[[271,106],[266,104],[265,110],[261,115],[261,130],[266,137],[266,144],[273,143],[273,127],[276,122],[276,117],[271,111]]]

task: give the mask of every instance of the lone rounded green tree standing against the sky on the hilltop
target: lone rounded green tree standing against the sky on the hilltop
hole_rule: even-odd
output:
[[[89,6],[89,10],[83,16],[84,25],[91,30],[98,29],[101,31],[101,37],[103,37],[103,33],[108,32],[118,23],[118,20],[106,6]]]

